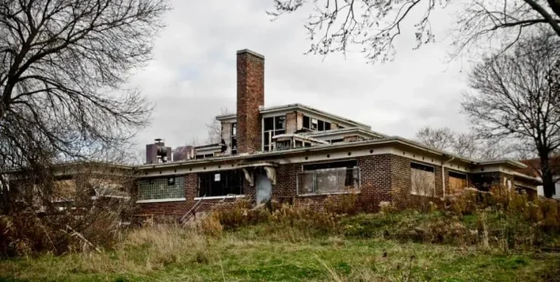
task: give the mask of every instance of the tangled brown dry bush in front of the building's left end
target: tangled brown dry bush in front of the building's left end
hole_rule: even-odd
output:
[[[126,196],[131,175],[112,175],[98,163],[70,168],[76,173],[69,179],[14,182],[17,205],[1,217],[0,256],[87,252],[110,248],[122,237],[121,223],[135,208],[134,199]]]

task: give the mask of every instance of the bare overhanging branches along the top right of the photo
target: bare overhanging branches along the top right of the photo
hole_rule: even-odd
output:
[[[451,9],[451,5],[460,5],[451,57],[481,46],[498,45],[504,51],[536,26],[560,35],[558,0],[274,0],[274,5],[269,13],[274,18],[305,5],[314,6],[304,24],[311,39],[308,53],[346,53],[351,45],[360,45],[372,63],[392,60],[393,42],[403,25],[413,25],[416,48],[432,43],[433,12]]]

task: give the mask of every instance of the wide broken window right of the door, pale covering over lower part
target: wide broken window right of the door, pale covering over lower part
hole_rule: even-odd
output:
[[[303,166],[298,179],[298,193],[331,194],[360,188],[360,168],[356,160]]]

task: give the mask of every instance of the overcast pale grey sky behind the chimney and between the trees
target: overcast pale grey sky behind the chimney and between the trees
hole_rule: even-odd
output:
[[[137,135],[144,146],[156,137],[168,146],[198,138],[223,109],[235,112],[236,51],[265,55],[265,106],[300,103],[371,125],[391,136],[413,137],[422,126],[466,131],[460,113],[468,64],[445,62],[449,12],[432,18],[438,43],[412,50],[412,24],[395,42],[397,57],[368,65],[360,53],[304,55],[309,48],[305,11],[271,22],[271,0],[172,1],[167,27],[156,39],[154,60],[130,83],[155,105],[151,126]]]

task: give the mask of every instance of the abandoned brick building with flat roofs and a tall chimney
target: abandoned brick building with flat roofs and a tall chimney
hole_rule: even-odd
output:
[[[217,116],[222,141],[175,150],[157,140],[137,167],[140,214],[182,216],[224,198],[290,201],[392,189],[443,196],[494,184],[535,194],[538,179],[512,160],[476,161],[300,104],[265,107],[264,56],[237,52],[237,113]]]

